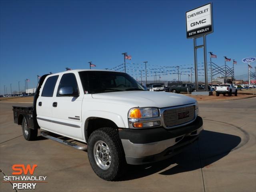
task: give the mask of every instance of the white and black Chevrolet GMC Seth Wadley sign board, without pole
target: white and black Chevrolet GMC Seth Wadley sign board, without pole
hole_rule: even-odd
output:
[[[212,32],[212,4],[206,4],[186,12],[187,38]]]

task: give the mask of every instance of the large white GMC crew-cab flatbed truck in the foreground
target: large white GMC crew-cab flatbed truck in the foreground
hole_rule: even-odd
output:
[[[26,140],[36,140],[40,128],[46,138],[87,150],[92,169],[104,180],[120,177],[126,163],[170,158],[203,130],[193,98],[149,92],[126,73],[104,70],[44,75],[33,106],[13,106],[13,112]]]

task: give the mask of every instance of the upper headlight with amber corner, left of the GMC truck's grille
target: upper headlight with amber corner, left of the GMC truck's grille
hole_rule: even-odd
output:
[[[130,119],[152,118],[158,116],[159,110],[155,107],[132,108],[128,113],[128,118]]]

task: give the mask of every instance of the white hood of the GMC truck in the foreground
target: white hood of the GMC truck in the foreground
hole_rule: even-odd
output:
[[[101,102],[124,104],[131,107],[172,107],[195,103],[196,100],[182,94],[150,91],[120,91],[92,94]]]

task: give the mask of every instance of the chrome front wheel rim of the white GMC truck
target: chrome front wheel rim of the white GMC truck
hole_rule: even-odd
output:
[[[108,145],[103,141],[97,141],[94,144],[93,155],[96,164],[106,170],[111,165],[111,154]]]

